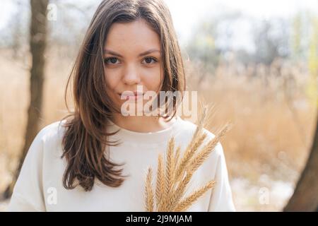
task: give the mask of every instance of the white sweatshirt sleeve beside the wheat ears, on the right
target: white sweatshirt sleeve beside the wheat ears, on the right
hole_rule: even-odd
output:
[[[232,191],[228,180],[228,169],[226,167],[225,155],[223,147],[220,143],[216,145],[218,161],[216,165],[216,184],[212,191],[208,212],[225,212],[235,211],[235,206],[232,201]]]

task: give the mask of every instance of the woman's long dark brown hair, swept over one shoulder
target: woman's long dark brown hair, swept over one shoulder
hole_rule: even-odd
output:
[[[142,18],[158,33],[164,66],[163,91],[184,91],[184,64],[172,24],[170,11],[162,0],[104,0],[98,6],[81,45],[65,90],[73,85],[74,109],[64,119],[62,158],[66,158],[63,184],[66,189],[80,185],[85,191],[93,188],[94,180],[117,187],[124,182],[120,165],[110,162],[105,154],[107,121],[119,112],[107,95],[104,72],[104,45],[112,23],[129,23]],[[175,102],[174,102],[175,105]],[[175,106],[174,106],[175,107]],[[175,115],[175,112],[174,114]]]

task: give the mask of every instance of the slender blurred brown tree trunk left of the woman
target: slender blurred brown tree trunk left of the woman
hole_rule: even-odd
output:
[[[40,127],[42,109],[43,82],[45,71],[45,47],[47,37],[47,4],[49,0],[30,0],[31,23],[30,23],[30,53],[32,66],[30,69],[30,105],[28,108],[28,123],[25,130],[25,143],[20,154],[18,167],[11,184],[4,191],[4,198],[12,194],[16,179],[23,165],[25,155],[35,138]]]

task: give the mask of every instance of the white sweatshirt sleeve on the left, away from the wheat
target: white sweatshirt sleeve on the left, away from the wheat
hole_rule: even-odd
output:
[[[42,189],[43,132],[30,145],[13,188],[8,211],[45,211]]]

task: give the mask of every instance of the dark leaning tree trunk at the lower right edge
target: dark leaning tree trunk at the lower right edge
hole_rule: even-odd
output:
[[[318,210],[318,120],[310,155],[284,211]]]

